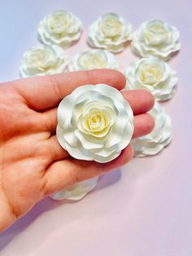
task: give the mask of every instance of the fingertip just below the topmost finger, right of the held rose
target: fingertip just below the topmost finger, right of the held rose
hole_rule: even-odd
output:
[[[124,90],[122,95],[131,105],[134,115],[146,113],[155,104],[154,96],[148,90]]]

